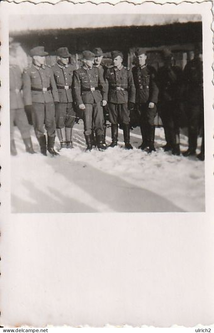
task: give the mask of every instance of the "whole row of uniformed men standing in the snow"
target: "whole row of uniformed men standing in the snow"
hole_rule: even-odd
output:
[[[66,47],[56,51],[57,63],[45,65],[48,55],[43,46],[30,51],[32,65],[22,73],[16,65],[16,47],[9,47],[10,62],[10,122],[11,154],[17,150],[13,136],[14,122],[19,128],[26,151],[34,154],[29,118],[32,118],[40,151],[47,156],[59,155],[54,149],[57,133],[60,149],[72,149],[72,128],[75,111],[82,113],[86,151],[99,151],[117,146],[118,127],[123,129],[125,149],[130,144],[130,118],[137,117],[142,144],[139,149],[152,153],[155,149],[155,117],[157,106],[163,123],[166,145],[164,151],[180,155],[179,110],[185,103],[188,120],[188,150],[183,156],[196,155],[199,125],[203,129],[203,71],[202,52],[195,50],[194,59],[182,71],[173,65],[170,51],[162,52],[163,67],[158,72],[147,63],[143,48],[137,48],[137,64],[133,69],[123,65],[123,54],[112,51],[112,66],[102,66],[100,48],[82,52],[82,67],[69,64]],[[29,117],[30,115],[30,117]],[[28,116],[28,117],[27,117]],[[112,142],[106,145],[106,121],[111,123]],[[47,131],[47,138],[44,130]],[[204,160],[204,131],[201,153]]]

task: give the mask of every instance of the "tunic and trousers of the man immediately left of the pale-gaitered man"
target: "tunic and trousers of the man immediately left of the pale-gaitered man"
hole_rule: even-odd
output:
[[[25,105],[32,105],[32,121],[37,138],[44,136],[43,125],[48,136],[55,136],[54,102],[59,102],[53,71],[48,66],[32,65],[23,73],[23,97]]]

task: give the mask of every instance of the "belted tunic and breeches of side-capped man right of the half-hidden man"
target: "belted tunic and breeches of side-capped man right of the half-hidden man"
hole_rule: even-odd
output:
[[[129,124],[128,102],[135,103],[135,85],[132,71],[123,65],[118,69],[107,70],[105,80],[108,82],[108,107],[111,124]]]

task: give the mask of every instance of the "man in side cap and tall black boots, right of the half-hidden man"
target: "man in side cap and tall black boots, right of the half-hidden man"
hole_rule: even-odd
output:
[[[108,82],[108,108],[111,123],[112,143],[117,146],[118,124],[122,124],[125,149],[133,149],[130,144],[129,109],[135,104],[135,85],[132,71],[122,65],[123,54],[120,51],[111,53],[114,67],[107,70],[105,80]]]

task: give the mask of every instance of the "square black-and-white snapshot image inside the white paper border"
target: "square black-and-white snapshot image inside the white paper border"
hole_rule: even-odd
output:
[[[9,17],[11,209],[205,211],[202,17]]]

